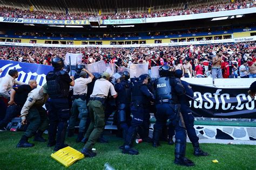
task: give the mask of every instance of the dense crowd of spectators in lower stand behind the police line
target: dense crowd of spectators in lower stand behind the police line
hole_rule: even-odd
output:
[[[84,64],[100,60],[118,67],[147,63],[154,66],[170,65],[183,69],[184,74],[197,77],[211,76],[212,59],[221,50],[223,77],[256,75],[256,41],[235,44],[209,44],[190,46],[140,48],[57,48],[0,46],[0,59],[50,65],[55,57],[65,58],[66,53],[82,53]],[[239,67],[242,66],[242,70]],[[250,67],[255,67],[250,69]],[[241,72],[242,71],[242,72]],[[255,73],[254,73],[255,72]],[[198,76],[200,75],[200,76]]]

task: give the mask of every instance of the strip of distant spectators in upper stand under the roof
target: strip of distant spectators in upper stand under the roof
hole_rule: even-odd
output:
[[[100,17],[101,19],[132,19],[132,18],[153,18],[153,17],[167,17],[167,16],[180,16],[190,15],[194,13],[206,13],[216,11],[235,10],[243,8],[254,7],[255,3],[253,0],[246,0],[234,3],[221,3],[212,5],[200,5],[193,6],[191,8],[184,7],[183,9],[169,9],[165,11],[152,11],[152,12],[130,12],[129,9],[126,13],[109,13],[98,15],[95,13],[56,13],[46,11],[30,11],[20,10],[15,8],[0,7],[1,17],[12,17],[12,18],[30,18],[30,19],[88,19],[90,17]],[[103,11],[104,12],[104,11]]]

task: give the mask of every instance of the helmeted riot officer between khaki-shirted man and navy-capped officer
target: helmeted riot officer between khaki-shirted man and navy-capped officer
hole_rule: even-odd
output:
[[[123,138],[125,138],[129,128],[127,122],[130,121],[131,82],[128,80],[130,79],[129,72],[125,71],[119,74],[121,77],[117,79],[114,89],[118,93],[116,98],[118,124],[123,132]]]

